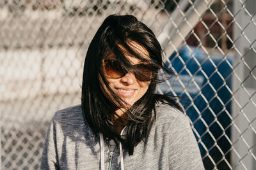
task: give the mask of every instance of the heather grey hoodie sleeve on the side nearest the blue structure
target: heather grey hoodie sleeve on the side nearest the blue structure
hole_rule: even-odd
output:
[[[182,113],[169,131],[169,169],[204,169],[202,157],[189,120]]]

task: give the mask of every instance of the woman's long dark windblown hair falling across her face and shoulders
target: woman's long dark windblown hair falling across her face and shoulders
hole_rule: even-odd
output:
[[[113,53],[118,60],[122,61],[125,69],[132,67],[125,57],[127,52],[132,57],[148,60],[138,53],[138,50],[134,50],[134,46],[131,45],[132,41],[147,50],[154,69],[152,69],[152,80],[147,92],[125,111],[128,118],[127,139],[124,140],[120,138],[113,124],[116,108],[122,107],[124,101],[109,87],[102,69],[102,59]],[[84,61],[82,85],[84,121],[90,125],[95,134],[101,132],[106,138],[120,140],[124,148],[132,155],[134,146],[138,145],[141,140],[147,142],[150,128],[156,119],[157,103],[161,101],[180,110],[179,104],[171,96],[155,94],[156,85],[161,81],[157,74],[159,69],[171,73],[164,65],[162,48],[154,33],[132,15],[107,17],[93,37]],[[132,71],[136,74],[136,70]],[[109,90],[110,95],[106,95],[104,88]],[[122,120],[124,119],[120,118],[121,122]]]

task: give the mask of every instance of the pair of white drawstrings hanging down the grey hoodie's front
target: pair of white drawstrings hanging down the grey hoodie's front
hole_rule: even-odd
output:
[[[124,129],[121,132],[124,132]],[[120,163],[121,163],[121,170],[124,170],[124,156],[123,156],[123,148],[122,143],[119,142],[119,148],[120,148]],[[105,170],[105,158],[104,158],[104,138],[103,134],[100,133],[100,169]]]

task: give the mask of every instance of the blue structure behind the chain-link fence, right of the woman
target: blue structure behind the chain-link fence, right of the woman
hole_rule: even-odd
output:
[[[225,135],[230,139],[230,101],[232,97],[230,93],[232,68],[230,65],[232,65],[233,57],[227,56],[227,59],[223,60],[222,55],[210,55],[209,58],[211,60],[209,60],[207,55],[202,53],[202,50],[199,48],[189,48],[191,49],[190,51],[184,46],[179,51],[180,57],[177,57],[177,53],[173,53],[170,61],[193,101],[184,93],[184,88],[178,80],[175,80],[175,77],[170,80],[170,83],[172,84],[173,91],[178,96],[182,96],[180,102],[194,123],[196,131],[209,151],[209,155],[214,162],[220,162],[218,169],[228,169],[227,164],[221,159],[223,159],[223,154],[225,154],[225,159],[230,162],[230,152],[228,151],[231,145],[228,139],[225,138]],[[185,68],[193,75],[193,81],[196,82],[200,89],[191,81],[191,76]],[[159,88],[164,93],[170,92],[169,86],[166,83],[161,83]],[[221,129],[221,126],[224,130]],[[207,154],[207,150],[201,144],[199,144],[199,148],[202,157],[204,157]],[[223,153],[221,153],[221,150]],[[205,169],[213,168],[214,165],[209,157],[204,159],[204,166]]]

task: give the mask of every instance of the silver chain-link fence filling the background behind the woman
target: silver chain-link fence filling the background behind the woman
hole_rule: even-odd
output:
[[[1,0],[1,169],[38,169],[54,112],[80,103],[83,61],[108,15],[147,24],[176,74],[205,169],[256,167],[254,0]]]

